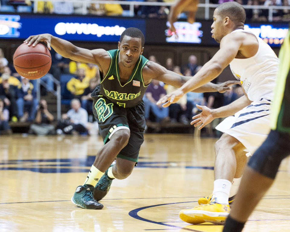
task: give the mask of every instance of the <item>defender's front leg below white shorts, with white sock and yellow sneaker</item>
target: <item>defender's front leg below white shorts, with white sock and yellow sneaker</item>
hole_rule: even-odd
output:
[[[231,182],[236,175],[240,175],[240,170],[243,169],[247,161],[244,149],[245,147],[236,138],[228,134],[221,136],[215,144],[216,162],[214,165],[213,194],[205,198],[208,204],[180,211],[179,217],[183,221],[191,224],[200,224],[206,221],[223,224],[230,212],[228,199]],[[238,170],[237,173],[236,170]]]

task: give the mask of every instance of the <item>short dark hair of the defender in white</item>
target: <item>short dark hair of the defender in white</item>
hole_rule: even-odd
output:
[[[246,11],[237,2],[224,2],[217,6],[218,14],[222,17],[229,17],[234,23],[245,23]]]

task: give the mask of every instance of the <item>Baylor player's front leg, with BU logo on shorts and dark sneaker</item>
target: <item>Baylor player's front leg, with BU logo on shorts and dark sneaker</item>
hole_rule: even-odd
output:
[[[105,145],[98,151],[84,184],[77,187],[72,203],[81,208],[100,209],[103,205],[93,197],[95,185],[118,153],[127,145],[130,129],[125,108],[114,105],[102,95],[98,95],[93,106],[93,113]]]

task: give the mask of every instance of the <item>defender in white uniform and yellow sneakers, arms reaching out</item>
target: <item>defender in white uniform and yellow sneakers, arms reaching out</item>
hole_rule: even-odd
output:
[[[211,33],[220,43],[220,50],[180,89],[157,102],[164,103],[164,107],[175,103],[185,93],[216,78],[227,65],[245,93],[218,109],[198,106],[202,112],[193,117],[191,124],[199,126],[198,129],[214,118],[227,118],[216,127],[224,133],[215,144],[213,194],[200,198],[199,206],[179,213],[183,221],[191,224],[224,223],[230,212],[232,182],[237,182],[234,178],[240,179],[247,162],[246,154],[253,154],[270,131],[270,102],[279,59],[263,40],[243,30],[245,19],[245,10],[237,2],[219,5],[214,11]]]

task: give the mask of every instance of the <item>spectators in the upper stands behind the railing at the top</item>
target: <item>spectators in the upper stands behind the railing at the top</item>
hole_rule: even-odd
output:
[[[126,0],[133,1],[133,0]],[[233,0],[211,0],[210,3],[221,4]],[[290,6],[290,0],[235,0],[241,5]],[[174,0],[137,0],[137,2],[174,2]],[[0,11],[33,12],[34,2],[29,0],[1,0]],[[37,1],[37,12],[45,14],[83,14],[83,3],[70,1]],[[266,21],[268,9],[246,9],[247,19]],[[129,5],[88,3],[86,14],[129,16]],[[169,6],[134,5],[134,16],[148,18],[166,18]],[[182,14],[186,17],[185,14]],[[273,10],[273,21],[289,21],[290,10]]]

